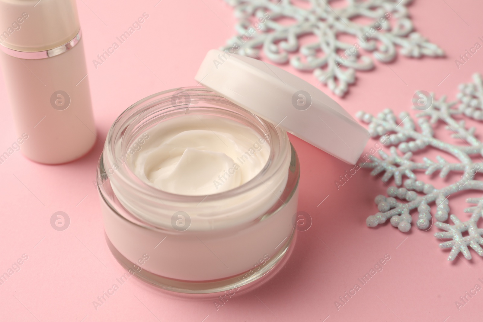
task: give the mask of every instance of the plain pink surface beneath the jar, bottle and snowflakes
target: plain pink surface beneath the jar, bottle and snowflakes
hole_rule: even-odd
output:
[[[193,77],[205,53],[234,34],[232,8],[221,0],[156,2],[78,1],[102,140],[117,115],[137,100],[158,91],[196,85]],[[459,70],[455,65],[456,57],[483,36],[482,9],[483,5],[470,0],[416,0],[409,10],[417,31],[440,45],[447,57],[398,56],[388,66],[376,62],[373,71],[357,74],[356,85],[345,98],[335,99],[352,114],[358,110],[377,113],[387,107],[396,112],[409,110],[416,90],[434,91],[438,97],[448,94],[454,99],[458,84],[483,71],[481,50]],[[95,69],[92,60],[143,12],[149,18],[142,29]],[[311,73],[283,67],[318,83]],[[329,93],[326,87],[320,88]],[[0,104],[3,152],[16,140],[3,79]],[[477,126],[483,130],[481,123]],[[445,133],[443,126],[439,128]],[[295,251],[278,275],[261,288],[230,299],[219,310],[213,301],[172,298],[137,279],[129,279],[96,310],[92,302],[124,273],[106,246],[92,183],[102,143],[98,141],[84,158],[61,166],[36,164],[15,152],[0,165],[0,274],[23,253],[28,260],[0,286],[0,320],[481,320],[483,291],[460,310],[455,301],[475,284],[483,286],[478,280],[483,279],[482,257],[471,251],[471,261],[460,255],[454,263],[447,262],[448,252],[440,250],[439,240],[433,237],[439,231],[434,226],[428,232],[413,227],[407,234],[390,224],[369,229],[366,218],[377,212],[373,198],[384,194],[386,185],[371,177],[369,170],[361,169],[337,190],[334,181],[352,166],[293,136],[291,140],[302,167],[298,209],[311,214],[313,225],[299,233]],[[367,149],[374,143],[369,141]],[[427,178],[424,174],[420,177]],[[444,184],[439,179],[434,182],[437,187]],[[450,197],[451,213],[462,220],[469,218],[462,213],[467,196]],[[51,215],[59,210],[71,218],[69,228],[62,232],[50,225]],[[361,285],[357,278],[384,254],[391,256],[384,270],[337,310],[334,302],[339,296],[355,283]]]

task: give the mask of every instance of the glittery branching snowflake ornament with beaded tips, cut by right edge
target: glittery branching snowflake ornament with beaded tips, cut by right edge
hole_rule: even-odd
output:
[[[483,119],[481,75],[473,75],[473,81],[474,83],[460,86],[462,92],[457,95],[459,102],[447,102],[445,96],[436,100],[434,94],[431,93],[428,99],[432,101],[432,104],[425,111],[416,114],[419,131],[416,130],[414,119],[407,112],[399,114],[400,121],[389,109],[377,116],[365,112],[358,112],[356,115],[357,118],[369,124],[369,133],[372,137],[380,137],[382,144],[390,146],[389,154],[380,151],[381,159],[369,155],[371,162],[364,162],[361,167],[372,168],[372,175],[378,175],[384,171],[382,181],[387,182],[394,177],[396,183],[396,186],[388,187],[388,197],[380,195],[375,198],[380,212],[369,216],[366,221],[367,225],[374,227],[390,218],[393,226],[398,227],[402,232],[407,232],[411,229],[412,222],[409,212],[417,208],[419,217],[416,225],[418,228],[426,230],[431,220],[429,204],[435,202],[437,205],[434,214],[437,221],[435,225],[446,230],[446,232],[436,233],[435,237],[452,239],[440,243],[440,248],[452,248],[448,257],[450,261],[454,260],[459,252],[462,252],[465,258],[471,259],[468,246],[483,256],[483,249],[480,247],[483,245],[483,229],[477,227],[478,220],[483,214],[483,197],[467,200],[469,203],[477,204],[475,207],[465,210],[465,212],[472,213],[468,221],[461,222],[455,215],[451,215],[453,225],[442,223],[448,219],[450,211],[448,197],[451,194],[464,190],[483,191],[483,182],[474,179],[476,173],[483,172],[483,158],[481,158],[483,143],[475,137],[475,127],[467,128],[464,120],[456,121],[453,118],[454,115],[464,114],[476,120]],[[459,105],[456,106],[458,103]],[[436,139],[432,125],[438,122],[445,123],[446,129],[454,132],[452,136],[463,140],[466,145],[455,145]],[[436,161],[425,157],[421,163],[413,162],[412,153],[428,146],[452,154],[460,162],[448,162],[441,156],[437,156]],[[398,154],[398,150],[403,154],[402,156]],[[480,156],[482,162],[473,161],[471,155]],[[463,174],[457,182],[436,189],[430,183],[417,180],[414,170],[426,170],[426,175],[439,171],[441,178],[445,178],[451,171]],[[400,187],[402,176],[409,178],[404,181],[404,187]],[[402,202],[398,202],[396,198]],[[463,237],[463,232],[468,232],[469,235]]]

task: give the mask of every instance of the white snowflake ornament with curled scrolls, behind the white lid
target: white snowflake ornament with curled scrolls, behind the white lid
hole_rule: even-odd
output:
[[[394,60],[396,47],[404,56],[444,55],[437,45],[413,31],[407,9],[411,0],[347,0],[345,7],[330,6],[332,0],[310,0],[308,8],[290,0],[225,1],[235,8],[238,35],[227,40],[221,50],[260,58],[263,47],[271,61],[290,61],[298,70],[313,71],[318,81],[338,96],[355,83],[355,70],[374,67],[369,56],[361,56],[361,48],[385,63]],[[354,21],[361,17],[372,23]],[[295,22],[279,23],[283,18]],[[299,38],[305,35],[314,35],[317,41],[300,45]],[[353,36],[354,42],[340,40],[341,35]],[[298,49],[299,53],[289,58],[288,53]]]

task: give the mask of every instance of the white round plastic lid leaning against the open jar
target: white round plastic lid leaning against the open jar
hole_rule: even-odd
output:
[[[195,80],[347,163],[357,163],[369,140],[369,132],[332,98],[261,60],[212,49]]]

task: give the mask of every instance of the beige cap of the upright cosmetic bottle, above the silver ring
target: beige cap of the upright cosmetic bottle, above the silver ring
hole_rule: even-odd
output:
[[[75,0],[0,0],[0,44],[20,52],[62,46],[79,33]]]

